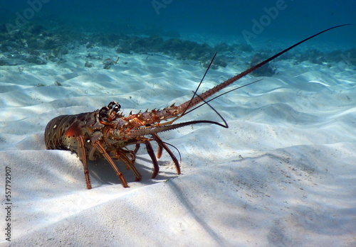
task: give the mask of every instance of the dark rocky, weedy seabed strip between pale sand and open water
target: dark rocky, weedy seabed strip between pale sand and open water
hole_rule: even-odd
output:
[[[178,36],[178,35],[175,35]],[[70,49],[79,45],[85,45],[86,48],[108,47],[115,48],[117,53],[140,53],[152,54],[160,53],[169,55],[179,60],[196,60],[204,67],[209,65],[214,53],[218,53],[212,69],[219,66],[226,67],[230,62],[240,60],[244,56],[244,64],[253,66],[257,62],[266,59],[270,55],[280,50],[254,50],[247,44],[227,45],[220,43],[211,47],[206,43],[196,43],[180,38],[163,38],[160,35],[151,35],[149,37],[124,34],[103,34],[103,33],[76,33],[66,28],[56,28],[52,31],[38,24],[28,24],[22,28],[8,32],[6,26],[0,25],[0,66],[21,65],[28,62],[34,65],[45,65],[51,62],[66,62],[65,56]],[[254,55],[253,55],[254,54]],[[115,57],[112,55],[112,57]],[[246,57],[248,60],[246,60]],[[334,50],[330,53],[323,53],[320,50],[307,50],[303,53],[291,51],[278,60],[294,60],[295,63],[309,61],[315,64],[325,64],[329,62],[347,62],[349,65],[356,65],[356,48],[341,51]],[[90,53],[88,52],[88,59]],[[96,57],[95,57],[96,59]],[[107,62],[104,62],[106,69],[110,68]],[[85,67],[93,67],[88,62]],[[273,75],[276,71],[271,65],[261,67],[256,70],[254,75]]]

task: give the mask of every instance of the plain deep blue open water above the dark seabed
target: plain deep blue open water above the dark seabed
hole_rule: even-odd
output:
[[[330,26],[356,23],[356,1],[1,1],[0,23],[68,31],[171,35],[234,35],[246,43],[273,38],[300,40]],[[356,46],[356,26],[326,33],[315,42]]]

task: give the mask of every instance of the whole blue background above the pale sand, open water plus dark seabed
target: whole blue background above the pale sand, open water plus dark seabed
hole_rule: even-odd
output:
[[[58,60],[75,44],[117,48],[117,53],[158,52],[203,63],[218,52],[223,61],[215,63],[226,65],[244,51],[266,57],[312,33],[356,23],[355,9],[351,0],[3,1],[0,50],[30,53],[37,57],[25,60],[40,64],[46,62],[40,56],[43,50]],[[284,58],[355,64],[355,43],[355,28],[343,28],[337,35],[310,40],[308,50],[296,54],[305,47],[300,45]],[[0,65],[16,62],[0,57]]]

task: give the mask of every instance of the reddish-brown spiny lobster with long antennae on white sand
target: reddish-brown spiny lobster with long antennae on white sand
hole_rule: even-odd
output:
[[[340,25],[346,26],[350,24]],[[340,26],[334,26],[333,28],[338,28]],[[157,158],[160,158],[162,155],[162,150],[166,150],[167,153],[171,156],[177,174],[180,174],[179,162],[177,158],[172,153],[167,146],[167,143],[162,141],[161,138],[157,135],[162,131],[169,131],[175,128],[181,128],[183,126],[188,126],[192,124],[218,124],[228,128],[226,122],[225,125],[219,124],[215,121],[209,120],[200,120],[200,121],[187,121],[179,124],[173,124],[174,121],[180,119],[182,116],[188,114],[190,111],[197,109],[203,104],[209,104],[209,101],[220,97],[223,94],[220,94],[213,99],[209,99],[213,94],[216,94],[221,89],[228,87],[230,84],[236,82],[241,77],[248,75],[253,72],[253,70],[258,69],[259,67],[266,65],[267,62],[279,57],[283,53],[286,53],[288,50],[295,48],[295,46],[300,45],[301,43],[313,38],[321,33],[325,33],[333,28],[328,28],[320,33],[305,38],[304,40],[296,43],[295,45],[290,46],[289,48],[281,51],[280,53],[273,55],[272,57],[264,60],[263,62],[258,63],[248,70],[241,72],[239,75],[227,79],[225,82],[216,85],[215,87],[209,89],[208,91],[198,95],[197,87],[192,99],[179,106],[169,106],[162,110],[153,109],[152,111],[139,112],[137,114],[130,113],[129,116],[124,116],[122,111],[120,111],[120,104],[115,101],[110,102],[108,106],[104,106],[102,109],[98,109],[93,112],[87,112],[77,115],[63,115],[57,116],[56,118],[49,121],[46,126],[45,131],[45,142],[47,149],[59,149],[59,150],[71,150],[78,154],[80,160],[83,160],[85,180],[88,190],[91,189],[91,182],[88,170],[88,159],[95,160],[98,156],[103,155],[103,157],[108,160],[112,168],[117,173],[117,176],[120,177],[123,187],[129,187],[125,176],[120,172],[120,170],[115,165],[112,158],[121,159],[125,163],[127,169],[132,170],[135,175],[135,180],[140,181],[142,176],[140,172],[135,168],[135,158],[137,150],[140,148],[140,144],[144,143],[147,149],[147,153],[150,155],[153,163],[153,174],[152,178],[155,178],[159,172],[159,165],[157,163]],[[215,54],[216,55],[216,54]],[[214,56],[215,57],[215,56]],[[214,58],[213,58],[214,60]],[[211,62],[213,61],[211,60]],[[211,65],[211,64],[210,64]],[[258,80],[259,81],[259,80]],[[256,83],[251,82],[249,84]],[[249,84],[244,84],[241,87],[246,87]],[[231,89],[228,92],[234,91],[241,87]],[[228,93],[225,92],[224,94]],[[197,106],[200,104],[199,106]],[[194,109],[192,107],[196,106]],[[189,110],[190,109],[190,110]],[[188,111],[189,110],[189,111]],[[218,113],[219,114],[219,113]],[[220,116],[220,115],[219,115]],[[172,119],[171,121],[168,121]],[[223,119],[224,120],[224,119]],[[166,121],[161,124],[161,121]],[[158,144],[157,158],[155,152],[151,146],[151,141],[156,141]],[[127,149],[127,146],[135,144],[135,150]]]

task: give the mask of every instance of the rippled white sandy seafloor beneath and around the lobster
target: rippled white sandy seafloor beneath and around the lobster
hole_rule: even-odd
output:
[[[0,67],[0,177],[3,187],[4,166],[11,168],[12,246],[356,246],[355,67],[275,62],[278,75],[247,76],[234,86],[263,80],[211,103],[230,128],[160,134],[182,154],[182,175],[164,153],[152,180],[142,147],[141,182],[121,163],[130,185],[123,188],[99,160],[90,163],[86,190],[77,155],[46,150],[48,121],[110,101],[125,114],[181,104],[205,70],[140,54],[120,54],[119,65],[103,70],[103,61],[84,67],[87,54],[80,48],[62,64]],[[210,70],[201,90],[245,69]],[[182,121],[194,119],[221,121],[208,106]]]

